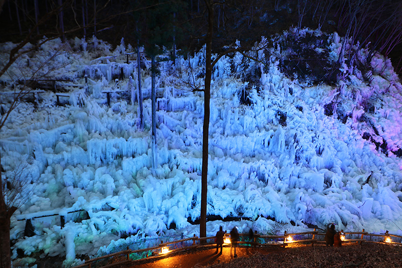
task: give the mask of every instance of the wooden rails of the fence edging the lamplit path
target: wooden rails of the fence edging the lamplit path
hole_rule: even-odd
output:
[[[343,233],[345,235],[347,235],[347,234],[361,235],[361,238],[358,238],[358,239],[343,239],[342,242],[344,242],[344,243],[367,242],[367,243],[381,243],[381,244],[392,244],[392,245],[401,245],[402,246],[402,243],[399,243],[399,242],[385,241],[385,240],[384,241],[369,241],[369,240],[364,239],[364,236],[384,237],[384,239],[386,237],[391,237],[391,236],[392,237],[402,238],[402,236],[400,236],[400,235],[389,234],[388,231],[386,233],[384,233],[384,234],[371,234],[371,233],[365,232],[364,229],[363,229],[362,232],[343,232]],[[301,240],[286,241],[286,239],[288,239],[289,236],[297,236],[297,235],[312,235],[313,238],[312,239],[301,239]],[[325,233],[319,233],[316,230],[311,231],[311,232],[300,232],[300,233],[287,233],[285,231],[284,235],[260,235],[260,234],[257,234],[257,233],[253,233],[252,241],[239,241],[237,243],[238,244],[246,244],[246,245],[249,244],[251,246],[271,246],[271,245],[286,246],[286,245],[289,245],[289,244],[298,244],[298,243],[311,243],[311,245],[314,246],[316,244],[320,244],[320,243],[322,244],[322,242],[324,242],[324,241],[320,241],[320,240],[315,239],[316,235],[325,235]],[[225,234],[225,236],[229,236],[229,234]],[[241,234],[239,234],[239,236],[246,236],[247,237],[247,236],[249,236],[249,234],[248,233],[247,234],[241,233]],[[165,257],[165,256],[167,256],[167,255],[169,255],[169,254],[171,254],[173,252],[184,251],[184,250],[187,250],[187,249],[190,249],[190,248],[199,247],[201,241],[206,241],[207,239],[215,239],[215,238],[216,238],[216,236],[197,237],[194,234],[193,237],[184,238],[184,239],[180,239],[180,240],[164,242],[164,243],[163,243],[163,241],[161,241],[161,243],[159,245],[149,247],[149,248],[136,249],[136,250],[131,250],[131,249],[127,248],[126,250],[122,250],[122,251],[119,251],[119,252],[116,252],[116,253],[111,253],[111,254],[108,254],[108,255],[104,255],[104,256],[100,256],[100,257],[85,260],[85,263],[82,263],[82,264],[80,264],[78,266],[74,266],[73,268],[81,268],[81,267],[91,268],[92,262],[94,262],[96,260],[100,260],[100,259],[114,257],[114,256],[117,256],[117,255],[126,255],[127,259],[119,261],[119,262],[115,262],[115,263],[112,263],[112,264],[108,264],[106,266],[102,266],[102,268],[112,267],[114,264],[117,264],[117,263],[138,262],[138,261],[141,261],[141,260],[144,260],[144,259],[153,259],[153,258]],[[283,239],[283,241],[276,241],[275,243],[260,243],[257,240],[257,238],[262,238],[262,239]],[[136,259],[136,260],[130,259],[130,254],[132,254],[132,253],[159,250],[159,249],[167,247],[170,244],[181,243],[181,242],[190,241],[190,240],[193,241],[192,245],[190,245],[190,246],[187,245],[187,246],[178,247],[178,248],[169,250],[167,253],[162,253],[161,252],[161,253],[159,253],[157,255],[152,255],[150,257],[147,256],[146,258],[140,258],[140,259]],[[196,241],[198,241],[199,243],[196,244]],[[209,243],[208,245],[213,245],[213,244],[215,244],[215,241],[213,243]]]

